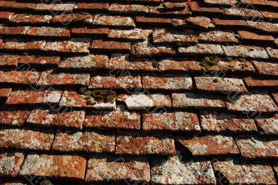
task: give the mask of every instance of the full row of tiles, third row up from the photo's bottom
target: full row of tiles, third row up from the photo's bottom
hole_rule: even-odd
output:
[[[130,112],[122,106],[113,111],[53,113],[47,109],[1,110],[0,124],[11,127],[67,127],[81,130],[145,130],[163,132],[254,133],[278,136],[278,115],[236,115],[225,112],[174,111]],[[199,116],[199,120],[198,120]],[[141,123],[142,122],[142,123]]]

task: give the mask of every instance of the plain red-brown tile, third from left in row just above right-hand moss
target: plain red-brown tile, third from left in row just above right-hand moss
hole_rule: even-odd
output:
[[[97,52],[120,52],[120,53],[129,53],[131,51],[130,42],[116,42],[116,41],[106,41],[102,39],[94,39],[91,46],[92,51]]]

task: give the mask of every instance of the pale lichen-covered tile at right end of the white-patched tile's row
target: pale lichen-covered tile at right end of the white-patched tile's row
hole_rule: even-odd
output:
[[[275,112],[278,109],[272,98],[265,91],[248,92],[236,100],[227,101],[226,105],[227,109],[240,112]]]

